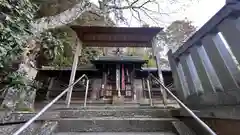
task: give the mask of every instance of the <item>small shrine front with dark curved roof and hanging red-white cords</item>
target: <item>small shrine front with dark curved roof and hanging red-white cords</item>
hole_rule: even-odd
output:
[[[146,62],[133,56],[102,56],[92,60],[96,68],[102,71],[100,98],[112,99],[114,96],[122,96],[127,100],[135,100],[135,71],[140,70]]]

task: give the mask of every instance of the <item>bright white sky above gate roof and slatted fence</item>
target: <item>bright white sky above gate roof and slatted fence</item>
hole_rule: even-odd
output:
[[[93,3],[98,4],[98,0],[90,0]],[[159,24],[161,26],[167,26],[174,20],[187,18],[193,21],[194,25],[201,27],[206,23],[221,7],[225,4],[225,0],[193,0],[194,2],[189,2],[190,0],[179,0],[177,4],[170,3],[170,0],[158,0],[161,3],[162,12],[170,12],[170,15],[158,16]],[[149,5],[151,9],[154,6]],[[182,8],[184,7],[184,8]],[[172,13],[174,12],[174,13]],[[129,20],[131,20],[131,15],[128,12],[124,13]],[[146,18],[147,20],[147,18]],[[151,25],[155,25],[150,20],[147,22]],[[131,26],[139,26],[139,23],[132,19]]]

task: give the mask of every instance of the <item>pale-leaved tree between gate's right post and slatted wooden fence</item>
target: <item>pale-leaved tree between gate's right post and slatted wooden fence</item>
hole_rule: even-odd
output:
[[[176,51],[196,31],[196,27],[188,20],[176,20],[157,35],[156,52],[162,69],[170,69],[166,52]],[[150,51],[151,52],[151,51]]]

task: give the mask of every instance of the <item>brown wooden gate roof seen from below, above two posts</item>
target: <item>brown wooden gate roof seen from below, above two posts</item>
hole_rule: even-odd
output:
[[[87,47],[152,47],[159,27],[102,27],[72,25],[78,38]]]

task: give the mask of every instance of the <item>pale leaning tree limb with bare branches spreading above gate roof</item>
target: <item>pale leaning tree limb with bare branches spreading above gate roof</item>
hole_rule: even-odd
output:
[[[49,4],[53,0],[33,1],[40,1],[41,3],[48,2]],[[33,30],[39,33],[47,29],[70,24],[77,18],[81,18],[82,14],[88,11],[102,16],[103,19],[107,19],[110,13],[112,13],[116,22],[124,22],[125,24],[129,24],[129,19],[126,18],[124,14],[126,12],[131,13],[131,16],[140,24],[147,24],[145,20],[151,20],[156,25],[159,25],[159,22],[161,22],[160,18],[162,15],[170,14],[162,11],[163,7],[161,7],[158,0],[98,0],[99,6],[96,6],[88,0],[70,0],[70,3],[73,3],[71,7],[62,12],[56,12],[55,15],[45,16],[35,20],[32,24]],[[171,0],[169,3],[178,3],[178,0]]]

